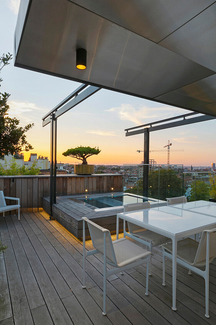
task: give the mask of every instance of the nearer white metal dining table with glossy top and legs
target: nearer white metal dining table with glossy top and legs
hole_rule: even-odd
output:
[[[180,204],[179,204],[180,205]],[[116,238],[119,233],[119,219],[124,220],[124,237],[125,221],[129,221],[140,227],[152,230],[158,234],[169,237],[173,242],[173,306],[176,310],[176,266],[177,266],[177,241],[181,238],[188,237],[206,229],[216,227],[216,218],[210,215],[203,215],[198,212],[188,211],[180,207],[161,206],[157,208],[137,210],[117,214],[116,220]],[[134,239],[137,238],[134,236]]]

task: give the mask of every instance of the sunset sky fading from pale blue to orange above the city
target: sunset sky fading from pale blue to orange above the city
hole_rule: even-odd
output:
[[[1,3],[0,55],[13,53],[18,5],[18,0]],[[42,128],[42,116],[80,84],[15,68],[13,60],[10,62],[1,73],[1,91],[11,94],[9,114],[16,116],[21,125],[35,123],[27,133],[34,147],[30,152],[50,158],[50,126]],[[62,152],[82,145],[101,149],[98,156],[89,158],[89,163],[140,163],[143,154],[137,150],[143,150],[143,135],[125,137],[124,129],[185,112],[189,111],[102,89],[58,119],[57,161],[74,163],[76,160],[62,156]],[[171,149],[184,149],[170,153],[171,164],[209,166],[216,162],[215,126],[212,120],[151,132],[150,149],[163,148],[170,140]],[[24,154],[28,160],[30,153]],[[163,164],[167,154],[151,152],[150,159]]]

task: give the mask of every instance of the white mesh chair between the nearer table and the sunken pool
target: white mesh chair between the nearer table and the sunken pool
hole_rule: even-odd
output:
[[[148,201],[133,203],[133,204],[124,204],[124,212],[150,209],[150,207],[151,206]],[[134,225],[131,222],[127,222],[127,226],[128,226],[129,234],[125,230],[125,220],[124,220],[124,237],[127,236],[129,238],[135,239],[134,238],[135,236],[137,241],[149,247],[150,252],[152,250],[152,247],[171,241],[171,239],[168,237],[159,235],[154,231],[147,230],[140,226]],[[151,255],[150,255],[149,275],[151,275]]]

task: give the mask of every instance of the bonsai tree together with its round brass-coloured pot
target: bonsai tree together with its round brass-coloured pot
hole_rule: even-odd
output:
[[[98,148],[91,147],[76,147],[67,149],[63,152],[63,156],[76,158],[82,160],[82,164],[74,165],[74,174],[77,175],[91,175],[94,174],[94,165],[88,165],[87,158],[93,155],[98,155],[101,152]]]

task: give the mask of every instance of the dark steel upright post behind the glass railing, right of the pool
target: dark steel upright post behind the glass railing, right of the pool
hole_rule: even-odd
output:
[[[149,194],[149,129],[144,129],[143,196]]]

